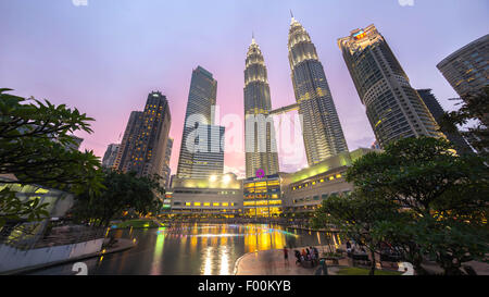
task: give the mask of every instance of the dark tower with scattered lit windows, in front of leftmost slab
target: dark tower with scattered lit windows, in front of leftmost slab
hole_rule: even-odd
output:
[[[161,175],[171,122],[166,97],[160,91],[150,92],[128,160],[128,171],[135,171],[139,176]],[[160,183],[163,185],[164,181]]]

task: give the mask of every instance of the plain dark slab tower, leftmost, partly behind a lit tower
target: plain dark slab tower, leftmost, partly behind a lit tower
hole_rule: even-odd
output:
[[[136,137],[141,125],[142,111],[131,111],[129,120],[127,121],[126,129],[124,131],[123,140],[117,151],[117,157],[113,164],[114,170],[127,172],[130,156],[133,154],[136,145]]]

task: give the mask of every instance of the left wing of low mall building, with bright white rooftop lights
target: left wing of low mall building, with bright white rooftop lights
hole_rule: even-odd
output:
[[[242,208],[242,185],[235,174],[172,182],[172,213],[235,218]]]

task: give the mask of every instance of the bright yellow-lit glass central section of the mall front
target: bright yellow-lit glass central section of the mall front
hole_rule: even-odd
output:
[[[283,212],[279,175],[247,178],[243,199],[244,216],[278,216]]]

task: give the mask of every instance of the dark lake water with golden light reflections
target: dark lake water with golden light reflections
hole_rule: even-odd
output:
[[[235,261],[256,250],[324,245],[330,235],[267,224],[187,224],[160,228],[116,230],[116,238],[136,239],[122,252],[84,260],[89,275],[229,275]],[[337,244],[338,239],[333,238]],[[33,274],[75,274],[73,263]]]

